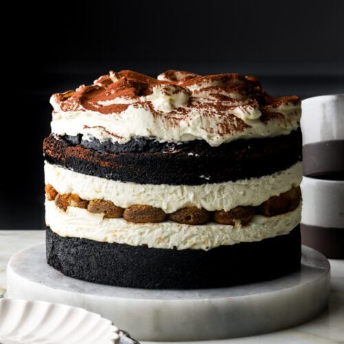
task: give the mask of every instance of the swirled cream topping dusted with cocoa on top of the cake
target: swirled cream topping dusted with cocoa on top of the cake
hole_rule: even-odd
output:
[[[169,70],[158,76],[110,72],[93,85],[54,94],[52,132],[125,143],[133,136],[164,141],[273,137],[299,127],[297,96],[274,98],[254,76],[200,76]]]

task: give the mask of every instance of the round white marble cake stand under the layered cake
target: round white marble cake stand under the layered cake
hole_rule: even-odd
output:
[[[45,244],[8,262],[8,297],[67,303],[96,312],[138,341],[201,341],[250,336],[308,321],[327,305],[330,264],[303,246],[301,269],[230,288],[146,290],[64,276],[45,262]]]

